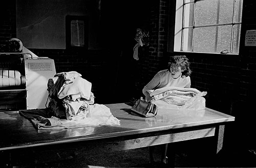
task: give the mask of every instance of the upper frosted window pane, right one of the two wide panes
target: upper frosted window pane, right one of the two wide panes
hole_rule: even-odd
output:
[[[233,3],[233,0],[220,1],[219,23],[232,23]]]

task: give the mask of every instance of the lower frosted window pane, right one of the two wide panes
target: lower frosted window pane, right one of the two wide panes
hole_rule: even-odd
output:
[[[231,33],[232,26],[219,26],[218,27],[218,41],[217,41],[217,53],[220,53],[223,50],[228,50],[230,52],[231,45]]]

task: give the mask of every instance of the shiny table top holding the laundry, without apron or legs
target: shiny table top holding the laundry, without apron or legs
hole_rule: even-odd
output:
[[[120,120],[120,125],[81,127],[63,130],[37,130],[18,111],[0,112],[0,150],[43,146],[100,138],[150,133],[177,128],[234,121],[234,117],[209,108],[205,110],[158,109],[155,117],[141,117],[124,103],[105,105]]]

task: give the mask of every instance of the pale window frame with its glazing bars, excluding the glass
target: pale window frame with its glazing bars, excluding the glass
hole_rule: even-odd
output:
[[[176,1],[171,1],[170,3],[170,32],[169,32],[169,38],[171,38],[171,40],[168,41],[169,44],[173,45],[173,46],[169,46],[168,44],[168,51],[172,51],[172,52],[185,52],[185,53],[209,53],[209,54],[220,54],[217,53],[217,42],[218,42],[218,29],[219,26],[226,26],[226,25],[231,25],[231,39],[230,39],[230,47],[228,49],[229,53],[227,54],[231,54],[231,55],[239,55],[239,50],[240,50],[240,44],[241,44],[241,25],[242,25],[242,18],[240,18],[238,21],[236,21],[236,8],[237,8],[237,2],[233,1],[233,14],[232,14],[232,22],[229,23],[215,23],[215,24],[208,24],[208,25],[203,25],[203,26],[196,26],[195,25],[195,12],[196,12],[196,3],[199,1],[204,1],[204,0],[195,0],[192,2],[185,2],[185,0],[176,0]],[[218,7],[220,6],[220,0],[217,1],[218,2]],[[239,2],[240,4],[240,9],[238,12],[238,16],[240,17],[242,15],[242,8],[243,8],[243,0],[241,0]],[[189,21],[193,21],[192,26],[184,26],[184,20],[185,20],[185,16],[184,16],[184,6],[186,4],[194,4],[194,13],[193,13],[193,19],[187,19]],[[180,8],[177,8],[180,7]],[[219,8],[217,8],[217,10],[220,10]],[[219,13],[219,12],[217,12]],[[175,23],[174,25],[172,25],[173,23]],[[236,36],[234,36],[234,27],[240,25],[240,31],[237,33]],[[217,33],[215,34],[215,52],[195,52],[194,51],[194,40],[195,40],[195,28],[204,28],[204,27],[216,27]],[[183,45],[184,45],[184,30],[186,29],[192,29],[191,31],[193,31],[192,33],[192,37],[191,37],[191,41],[190,44],[188,46],[190,46],[191,50],[188,51],[183,51]],[[179,31],[177,31],[179,30]],[[180,33],[181,32],[181,33]],[[173,34],[173,35],[172,35]],[[188,38],[187,38],[188,39]],[[233,52],[233,45],[234,45],[234,40],[239,40],[238,43],[238,47],[237,47],[237,53],[232,53]]]

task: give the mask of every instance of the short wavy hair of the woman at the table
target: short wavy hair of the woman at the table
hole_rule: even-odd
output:
[[[191,74],[191,70],[189,68],[190,62],[188,61],[188,58],[186,56],[173,56],[170,58],[170,62],[168,63],[168,71],[170,72],[170,66],[172,64],[175,64],[176,67],[181,67],[182,76],[187,77]]]

